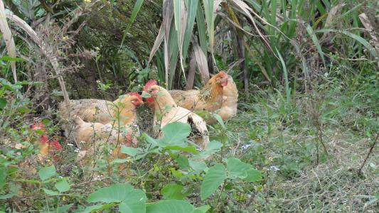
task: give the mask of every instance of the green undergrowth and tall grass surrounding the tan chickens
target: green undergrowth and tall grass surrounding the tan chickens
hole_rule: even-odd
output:
[[[4,4],[0,212],[378,208],[378,2]],[[142,107],[138,146],[102,141],[87,165],[57,114],[58,102],[114,100],[151,78],[201,87],[218,70],[237,83],[238,113],[208,125],[205,149],[188,124],[156,138]],[[117,148],[125,158],[109,158]]]

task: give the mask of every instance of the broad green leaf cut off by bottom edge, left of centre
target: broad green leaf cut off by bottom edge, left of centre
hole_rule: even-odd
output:
[[[146,213],[191,213],[193,206],[184,200],[161,200],[146,206]]]

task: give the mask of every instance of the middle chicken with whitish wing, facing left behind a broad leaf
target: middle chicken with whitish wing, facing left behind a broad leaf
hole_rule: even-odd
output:
[[[163,87],[159,87],[155,80],[150,80],[144,87],[151,97],[146,98],[148,106],[154,109],[154,125],[159,124],[161,128],[171,122],[181,122],[191,125],[191,133],[194,135],[194,141],[201,147],[205,148],[209,142],[208,129],[205,121],[194,114],[192,111],[183,107],[178,107],[169,92]],[[158,119],[158,116],[161,119]],[[161,138],[162,135],[160,134]]]

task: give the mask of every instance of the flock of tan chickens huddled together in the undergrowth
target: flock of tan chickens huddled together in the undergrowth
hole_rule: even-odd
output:
[[[142,96],[140,95],[142,94]],[[144,97],[144,98],[142,98]],[[137,107],[146,104],[154,111],[154,126],[162,129],[172,122],[191,125],[192,140],[201,148],[209,142],[207,124],[215,122],[214,116],[198,116],[193,111],[218,114],[229,119],[237,111],[237,87],[233,78],[223,71],[210,78],[201,90],[166,90],[156,80],[150,80],[141,92],[130,92],[114,102],[100,99],[70,100],[70,105],[61,103],[60,119],[68,121],[67,136],[73,136],[83,156],[92,156],[100,143],[116,147],[114,158],[125,158],[119,145],[137,146],[139,127]],[[158,138],[163,137],[161,131]]]

